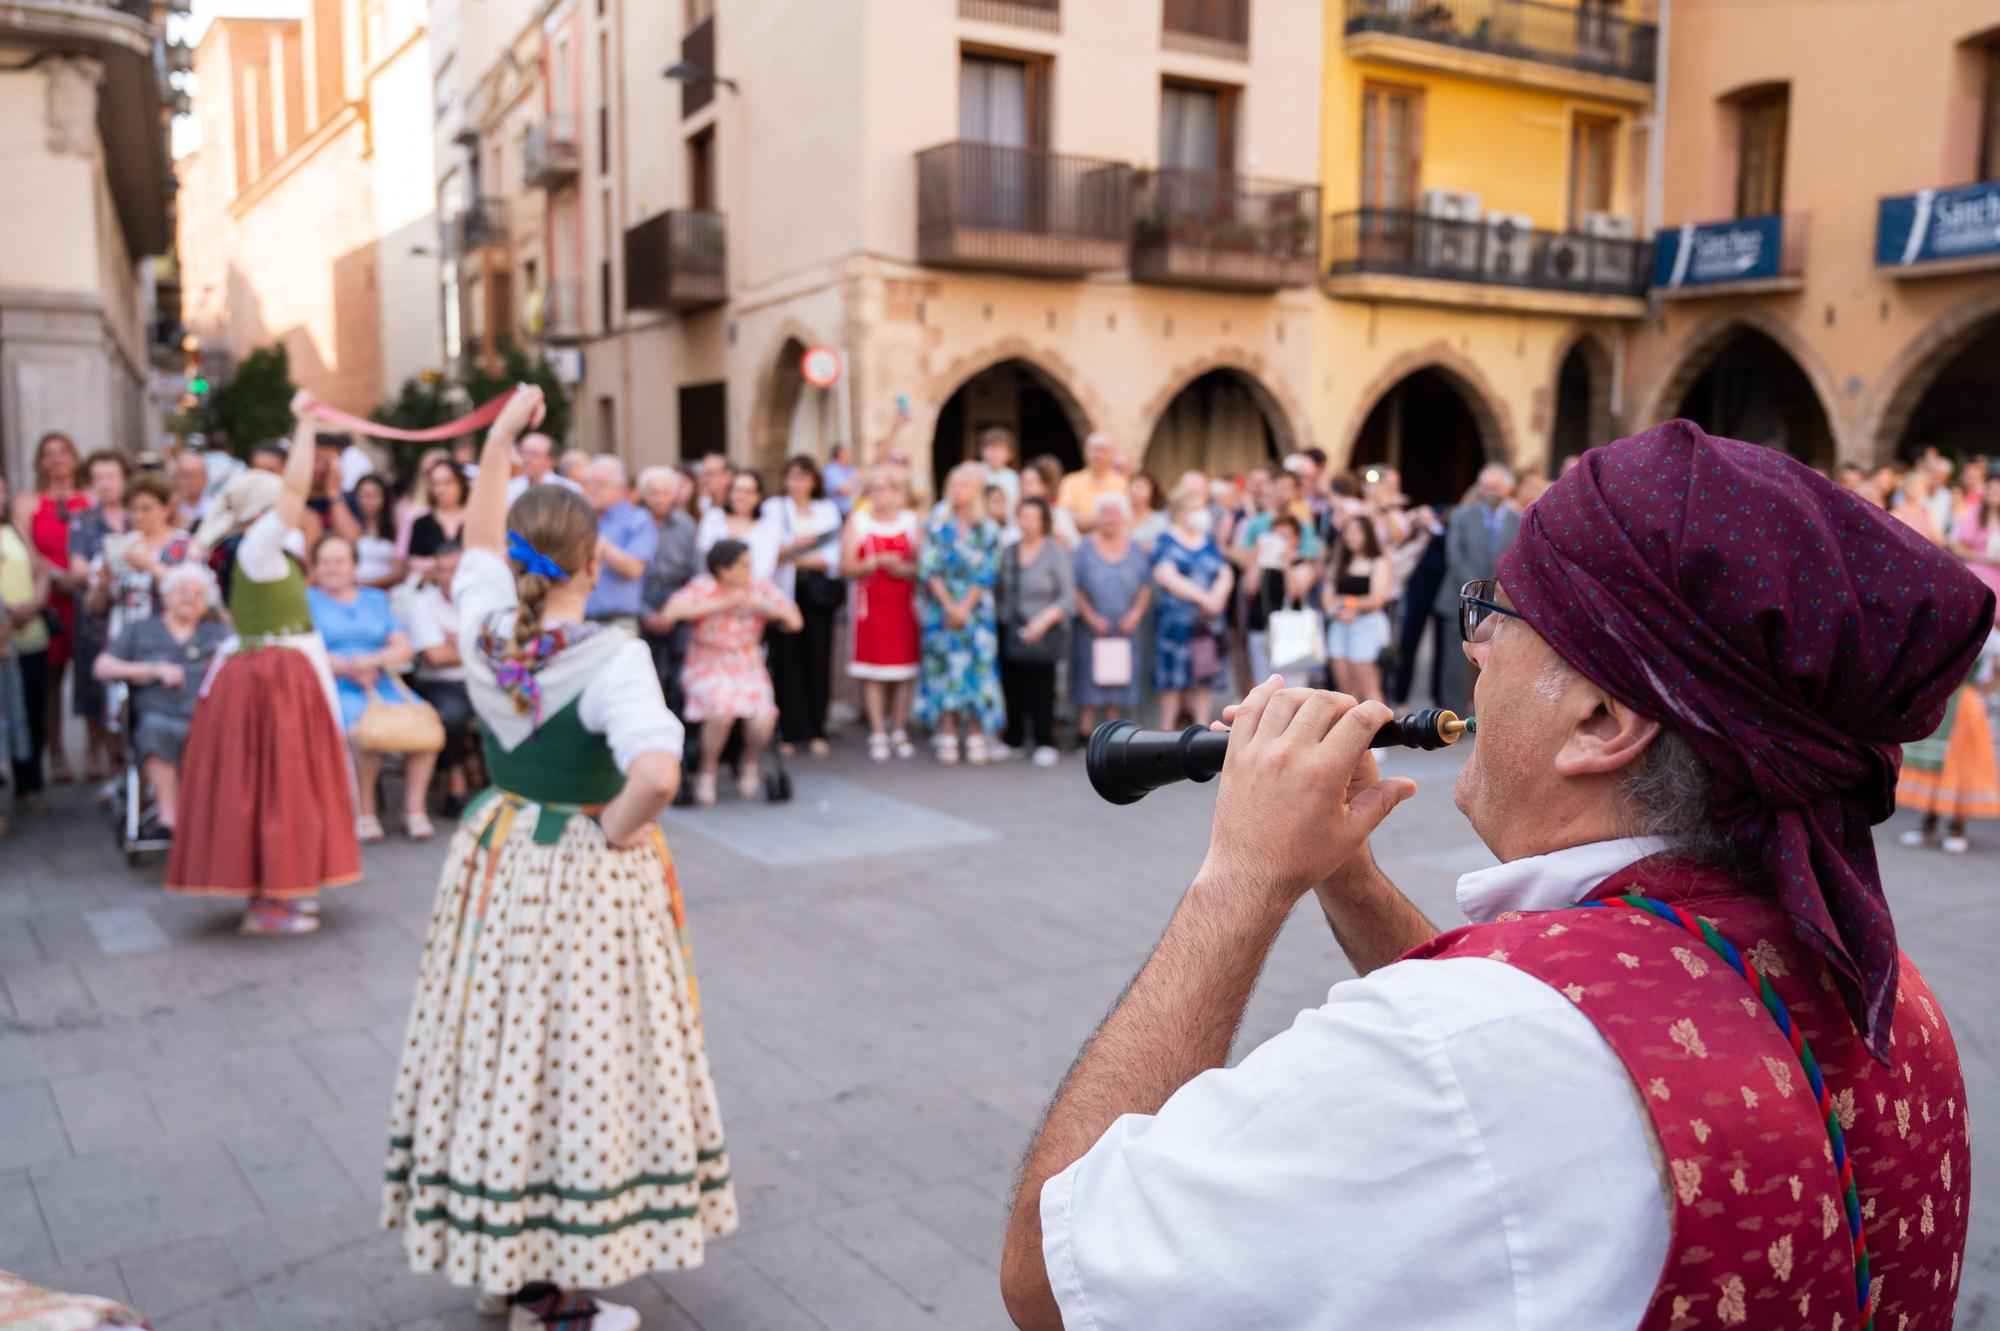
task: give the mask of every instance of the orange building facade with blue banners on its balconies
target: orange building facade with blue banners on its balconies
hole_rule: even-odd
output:
[[[1674,4],[1634,422],[1830,466],[2000,442],[2000,12]]]

